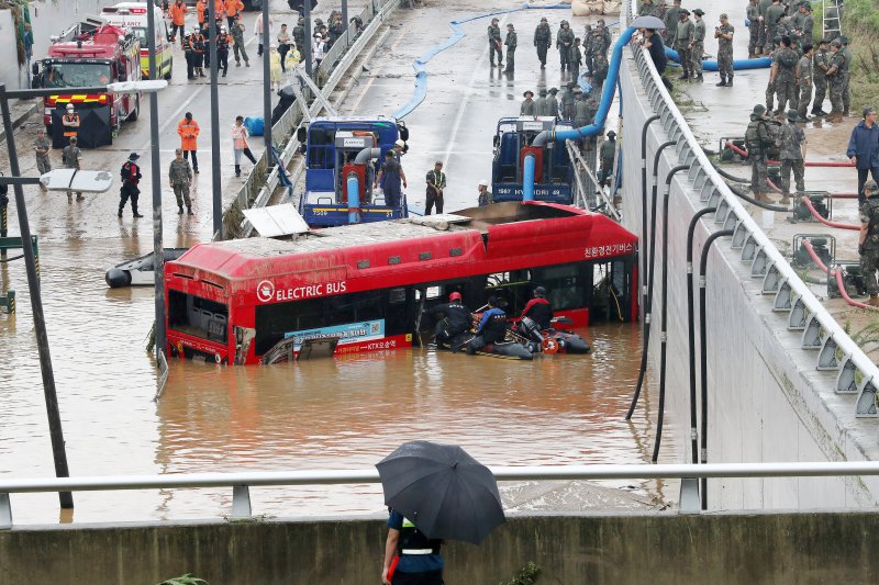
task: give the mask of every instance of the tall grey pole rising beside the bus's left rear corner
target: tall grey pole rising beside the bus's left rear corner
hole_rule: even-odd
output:
[[[149,47],[149,79],[156,79],[156,13],[153,5],[146,9],[146,36]],[[149,95],[149,164],[153,167],[153,262],[155,266],[156,297],[156,359],[165,351],[165,250],[162,243],[162,161],[158,154],[158,95]]]

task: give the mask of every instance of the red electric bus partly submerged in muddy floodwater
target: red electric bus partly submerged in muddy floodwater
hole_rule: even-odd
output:
[[[519,316],[536,285],[574,327],[632,320],[637,238],[567,205],[504,202],[455,215],[193,246],[165,270],[167,350],[258,363],[278,344],[338,337],[336,353],[418,345],[425,308],[459,291]]]

